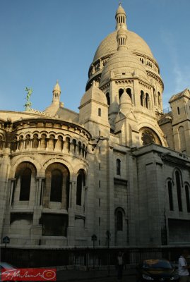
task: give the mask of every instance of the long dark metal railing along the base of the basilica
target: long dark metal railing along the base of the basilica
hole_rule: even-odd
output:
[[[1,260],[18,267],[40,266],[85,266],[86,269],[93,267],[106,267],[116,264],[119,251],[124,252],[125,264],[138,264],[143,259],[165,258],[177,261],[184,247],[123,247],[123,248],[73,248],[63,250],[37,250],[1,248]],[[188,247],[187,247],[188,248]],[[190,250],[190,246],[189,246]],[[109,255],[109,260],[107,259]]]

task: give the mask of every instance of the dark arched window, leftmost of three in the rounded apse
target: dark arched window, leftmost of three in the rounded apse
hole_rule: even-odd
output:
[[[20,201],[29,201],[31,175],[32,171],[30,168],[25,168],[20,176]]]

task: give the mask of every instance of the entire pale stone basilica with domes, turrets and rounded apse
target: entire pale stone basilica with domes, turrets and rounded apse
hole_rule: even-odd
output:
[[[164,113],[158,62],[121,4],[115,20],[78,112],[64,107],[59,82],[44,111],[0,111],[9,248],[190,243],[190,91],[174,93]]]

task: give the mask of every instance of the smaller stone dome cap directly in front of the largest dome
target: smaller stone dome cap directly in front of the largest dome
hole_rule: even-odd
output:
[[[122,75],[138,76],[148,81],[146,69],[143,67],[140,60],[127,50],[117,51],[107,61],[105,68],[102,71],[100,87],[110,79],[111,73],[114,73],[114,78],[122,78]]]

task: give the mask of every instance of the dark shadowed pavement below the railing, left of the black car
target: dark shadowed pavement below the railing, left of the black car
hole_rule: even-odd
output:
[[[136,269],[130,268],[129,266],[124,269],[124,276],[131,276],[135,275]],[[57,281],[85,281],[88,279],[95,279],[95,278],[104,278],[107,276],[116,276],[117,271],[114,267],[110,266],[108,271],[107,268],[105,269],[90,269],[85,270],[79,269],[61,269],[61,266],[57,266]]]

